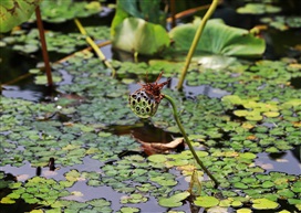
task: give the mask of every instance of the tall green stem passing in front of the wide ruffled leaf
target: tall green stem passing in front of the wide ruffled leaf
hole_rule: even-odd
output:
[[[204,15],[204,18],[201,19],[201,22],[200,22],[200,24],[198,26],[198,30],[197,30],[196,34],[195,34],[194,41],[193,41],[191,46],[189,49],[189,52],[187,54],[187,57],[186,57],[186,61],[185,61],[185,65],[184,65],[184,68],[181,71],[181,74],[180,74],[180,77],[179,77],[179,82],[178,82],[178,85],[177,85],[178,89],[181,89],[181,87],[183,87],[183,82],[185,79],[187,70],[188,70],[189,64],[191,62],[193,54],[195,53],[195,50],[197,47],[199,38],[200,38],[201,33],[203,33],[203,30],[204,30],[204,28],[206,25],[206,22],[211,17],[211,14],[214,13],[214,11],[216,10],[216,7],[217,7],[218,3],[219,3],[219,0],[212,0],[212,3],[210,6],[209,10],[206,12],[206,14]]]

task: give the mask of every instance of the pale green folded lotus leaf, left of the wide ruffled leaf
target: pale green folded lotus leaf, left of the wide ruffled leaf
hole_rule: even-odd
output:
[[[116,49],[145,55],[158,53],[169,45],[166,30],[137,18],[126,18],[115,29],[113,45]]]

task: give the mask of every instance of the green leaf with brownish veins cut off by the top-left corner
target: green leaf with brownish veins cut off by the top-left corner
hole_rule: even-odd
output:
[[[40,0],[1,0],[0,32],[8,32],[13,26],[27,21]]]

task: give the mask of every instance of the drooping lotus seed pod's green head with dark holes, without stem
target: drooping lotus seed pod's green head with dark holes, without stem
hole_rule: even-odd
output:
[[[128,104],[138,117],[148,118],[156,114],[159,103],[144,89],[138,89],[129,95]]]

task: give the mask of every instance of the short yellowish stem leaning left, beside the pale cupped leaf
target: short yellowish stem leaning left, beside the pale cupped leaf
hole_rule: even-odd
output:
[[[111,63],[106,60],[105,55],[103,54],[103,52],[101,51],[101,49],[97,46],[97,44],[87,35],[85,29],[83,28],[83,25],[81,24],[81,22],[77,19],[74,19],[74,22],[76,24],[76,26],[79,28],[80,32],[85,35],[85,40],[86,42],[92,46],[92,49],[95,51],[95,53],[97,54],[98,58],[101,61],[103,61],[103,63],[106,65],[106,67],[111,68],[112,71],[112,77],[115,77],[116,75],[116,71],[115,68],[111,65]]]

